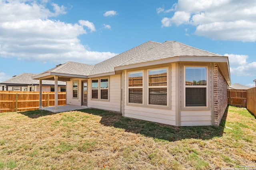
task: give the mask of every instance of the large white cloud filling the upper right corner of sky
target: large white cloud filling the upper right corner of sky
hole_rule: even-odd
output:
[[[171,18],[162,19],[162,27],[190,24],[195,34],[211,39],[256,41],[256,1],[178,0]],[[158,8],[157,13],[164,12]]]

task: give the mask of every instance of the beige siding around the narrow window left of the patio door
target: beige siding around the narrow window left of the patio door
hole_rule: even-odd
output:
[[[73,81],[78,80],[78,98],[73,98]],[[70,81],[66,82],[66,104],[81,106],[81,84],[82,79],[71,78]]]

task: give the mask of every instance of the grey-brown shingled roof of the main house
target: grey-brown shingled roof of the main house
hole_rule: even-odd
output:
[[[102,61],[95,65],[88,65],[68,61],[64,64],[59,64],[55,68],[42,72],[42,76],[38,74],[35,78],[46,77],[53,75],[66,74],[65,76],[72,75],[82,78],[87,76],[100,76],[100,74],[115,74],[115,68],[131,64],[145,63],[149,61],[157,61],[161,59],[168,59],[172,57],[224,57],[219,54],[211,53],[177,41],[165,41],[158,43],[148,41],[137,47],[134,47],[124,53],[120,53],[110,59]],[[102,76],[102,75],[101,75]]]

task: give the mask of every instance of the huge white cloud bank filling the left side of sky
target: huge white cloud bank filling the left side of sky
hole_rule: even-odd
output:
[[[79,20],[66,23],[51,17],[65,14],[65,7],[47,1],[0,0],[0,57],[19,60],[96,64],[116,54],[88,51],[78,36],[96,31],[94,23]]]

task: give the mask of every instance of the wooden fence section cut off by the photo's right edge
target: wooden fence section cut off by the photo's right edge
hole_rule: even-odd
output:
[[[247,89],[247,109],[256,116],[256,87]]]

